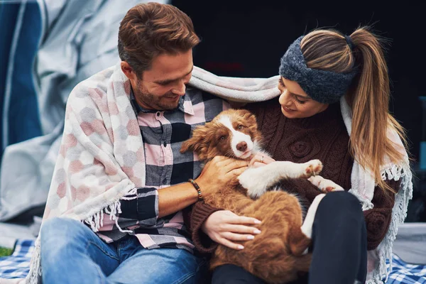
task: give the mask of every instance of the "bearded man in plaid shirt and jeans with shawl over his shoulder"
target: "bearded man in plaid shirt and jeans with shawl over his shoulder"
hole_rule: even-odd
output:
[[[207,265],[192,250],[182,210],[247,163],[217,157],[202,169],[193,153],[179,151],[193,127],[226,107],[186,87],[199,42],[174,6],[128,11],[119,28],[120,64],[78,84],[68,99],[30,282],[40,281],[40,269],[45,284],[202,281]],[[253,218],[212,216],[219,225],[240,224],[224,230],[229,246],[253,230],[244,226]]]

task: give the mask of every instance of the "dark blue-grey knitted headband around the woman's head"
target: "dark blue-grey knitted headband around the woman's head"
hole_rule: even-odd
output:
[[[302,38],[303,35],[297,38],[281,58],[280,75],[300,84],[303,91],[317,102],[323,104],[339,102],[340,97],[349,88],[356,71],[337,73],[308,68],[300,49]]]

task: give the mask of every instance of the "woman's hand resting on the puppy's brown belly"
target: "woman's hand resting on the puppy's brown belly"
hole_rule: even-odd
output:
[[[248,241],[254,239],[255,235],[261,234],[261,231],[253,226],[255,224],[261,224],[261,221],[252,217],[239,216],[229,210],[219,210],[211,214],[201,228],[218,244],[239,250],[244,249],[244,246],[234,241]]]

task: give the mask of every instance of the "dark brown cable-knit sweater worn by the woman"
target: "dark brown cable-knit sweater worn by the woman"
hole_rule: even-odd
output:
[[[324,165],[320,173],[323,178],[336,182],[345,190],[351,188],[354,160],[349,154],[349,135],[338,103],[330,104],[325,111],[305,119],[287,119],[283,116],[278,98],[247,104],[244,108],[256,114],[263,136],[263,148],[275,160],[305,163],[319,159]],[[400,182],[390,180],[388,185],[396,192]],[[297,193],[302,204],[308,206],[321,193],[317,187],[303,179],[287,180],[283,182],[283,187],[288,192]],[[376,188],[372,202],[373,209],[364,211],[368,250],[376,249],[388,231],[395,195]],[[201,230],[202,223],[217,210],[219,209],[204,202],[197,202],[186,218],[195,248],[202,253],[211,253],[217,246]]]

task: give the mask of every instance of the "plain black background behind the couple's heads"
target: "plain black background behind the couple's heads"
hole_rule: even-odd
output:
[[[192,18],[202,42],[194,50],[195,65],[217,75],[271,77],[278,75],[288,45],[314,28],[337,28],[350,35],[360,25],[388,40],[386,59],[391,77],[390,109],[408,131],[415,188],[407,222],[426,222],[426,182],[418,170],[425,122],[419,97],[426,96],[425,9],[395,1],[206,1],[176,0]],[[422,133],[423,131],[423,133]]]

